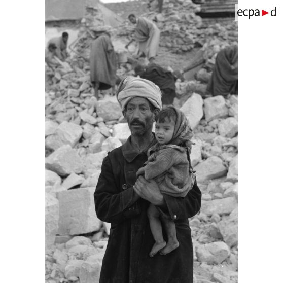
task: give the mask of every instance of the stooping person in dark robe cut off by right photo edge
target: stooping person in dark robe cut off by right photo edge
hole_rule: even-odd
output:
[[[207,91],[213,96],[238,94],[238,46],[220,50],[215,59]]]

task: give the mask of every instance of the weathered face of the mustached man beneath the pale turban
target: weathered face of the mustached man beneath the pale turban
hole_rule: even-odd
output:
[[[132,135],[142,136],[152,131],[152,125],[158,110],[152,112],[150,102],[144,97],[134,97],[128,104],[124,116]]]

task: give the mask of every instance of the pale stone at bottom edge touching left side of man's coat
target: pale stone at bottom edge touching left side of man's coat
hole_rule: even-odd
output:
[[[82,264],[80,269],[80,283],[98,283],[99,275],[102,265],[103,254],[98,253],[94,256],[90,256]]]

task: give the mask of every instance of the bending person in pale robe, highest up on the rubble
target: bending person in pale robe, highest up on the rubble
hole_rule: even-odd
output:
[[[145,17],[139,17],[136,19],[134,14],[130,14],[128,17],[132,24],[136,24],[134,38],[125,46],[128,46],[135,40],[138,43],[139,56],[147,56],[151,62],[157,55],[159,47],[160,30],[149,19]]]

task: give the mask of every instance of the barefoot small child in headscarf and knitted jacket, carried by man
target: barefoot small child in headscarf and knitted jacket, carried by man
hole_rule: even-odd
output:
[[[139,168],[136,176],[144,175],[147,181],[153,179],[161,193],[173,197],[185,197],[192,189],[195,175],[191,167],[192,130],[185,114],[172,106],[161,110],[155,117],[155,137],[157,144],[148,150],[148,161]],[[151,203],[148,218],[155,243],[150,257],[157,252],[166,255],[179,246],[175,223],[161,217]],[[167,234],[167,243],[162,234],[161,220]]]

